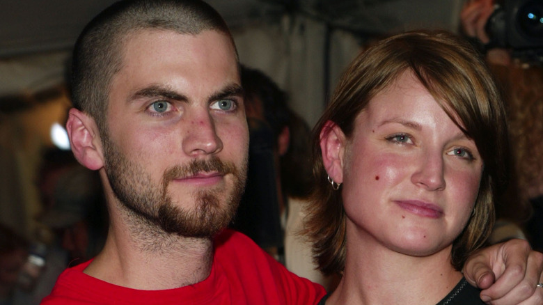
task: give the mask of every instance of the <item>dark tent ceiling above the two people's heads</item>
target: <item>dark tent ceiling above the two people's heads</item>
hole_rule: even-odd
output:
[[[114,0],[3,0],[0,58],[69,48],[77,34]],[[382,33],[414,26],[455,28],[462,0],[210,0],[230,26],[285,11],[335,26]]]

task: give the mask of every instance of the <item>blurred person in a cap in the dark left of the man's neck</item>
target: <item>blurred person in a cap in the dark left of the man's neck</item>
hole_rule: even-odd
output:
[[[71,151],[43,153],[38,173],[43,211],[19,275],[15,304],[33,305],[51,293],[67,267],[95,256],[107,235],[107,211],[100,177],[76,162]],[[32,262],[40,261],[41,265]]]

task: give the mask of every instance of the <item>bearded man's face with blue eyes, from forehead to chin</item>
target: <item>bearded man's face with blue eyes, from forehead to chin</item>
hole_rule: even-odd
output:
[[[115,201],[168,233],[209,237],[235,214],[249,132],[230,39],[143,30],[113,77],[104,170]]]

